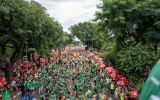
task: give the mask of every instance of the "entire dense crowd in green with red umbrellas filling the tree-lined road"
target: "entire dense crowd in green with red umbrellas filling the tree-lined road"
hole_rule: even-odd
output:
[[[21,100],[137,100],[130,82],[113,67],[106,67],[97,54],[75,48],[52,54],[50,59],[23,57],[13,67],[11,85],[4,90],[9,88],[12,98],[21,91]]]

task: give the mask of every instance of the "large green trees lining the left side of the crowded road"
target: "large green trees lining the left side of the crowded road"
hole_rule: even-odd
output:
[[[62,44],[62,26],[35,1],[2,0],[0,2],[0,69],[8,82],[12,65],[27,48],[48,55],[51,49]],[[11,53],[10,53],[11,52]]]

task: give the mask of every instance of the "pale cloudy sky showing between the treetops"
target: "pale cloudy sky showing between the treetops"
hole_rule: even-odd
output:
[[[47,13],[58,20],[69,32],[71,25],[79,22],[90,21],[95,18],[95,11],[98,11],[97,4],[100,0],[36,0],[42,4]]]

